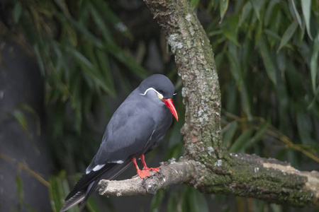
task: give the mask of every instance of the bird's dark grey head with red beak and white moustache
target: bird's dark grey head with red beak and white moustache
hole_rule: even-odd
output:
[[[140,83],[140,95],[147,95],[147,93],[152,92],[157,94],[157,98],[162,100],[162,102],[167,105],[169,110],[174,115],[177,121],[179,117],[177,115],[177,111],[173,104],[173,95],[174,95],[174,86],[172,82],[162,74],[154,74],[145,78],[142,83]],[[154,95],[156,98],[156,95]]]

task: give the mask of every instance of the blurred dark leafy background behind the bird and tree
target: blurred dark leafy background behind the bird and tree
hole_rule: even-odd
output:
[[[319,170],[319,1],[191,0],[211,40],[223,146]],[[0,1],[0,211],[60,211],[116,108],[143,78],[175,85],[150,166],[183,155],[181,80],[142,0]],[[119,177],[135,175],[133,167]],[[86,211],[319,211],[176,185],[90,198]],[[70,211],[78,211],[73,208]]]

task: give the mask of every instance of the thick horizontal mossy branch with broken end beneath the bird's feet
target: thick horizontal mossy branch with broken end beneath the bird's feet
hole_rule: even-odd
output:
[[[172,184],[186,183],[210,194],[233,194],[297,207],[319,204],[319,172],[300,172],[272,158],[230,153],[228,161],[209,165],[194,160],[173,161],[162,165],[161,170],[162,175],[152,172],[147,179],[102,179],[99,194],[156,194]]]

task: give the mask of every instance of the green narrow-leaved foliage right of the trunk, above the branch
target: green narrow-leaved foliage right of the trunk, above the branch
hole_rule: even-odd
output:
[[[318,1],[235,1],[219,14],[221,23],[218,8],[211,9],[207,34],[230,151],[275,157],[269,145],[311,148],[306,155],[319,162],[318,8]]]

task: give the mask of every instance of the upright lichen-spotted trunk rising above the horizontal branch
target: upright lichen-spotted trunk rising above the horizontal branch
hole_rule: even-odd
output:
[[[181,133],[185,155],[203,163],[215,160],[221,138],[220,90],[213,51],[205,31],[188,1],[145,3],[167,36],[183,81],[186,114]]]

